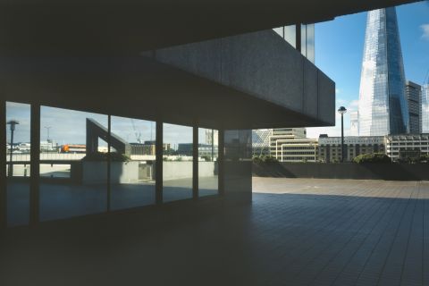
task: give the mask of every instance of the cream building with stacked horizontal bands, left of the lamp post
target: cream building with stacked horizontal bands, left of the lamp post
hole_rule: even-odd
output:
[[[269,138],[271,156],[280,162],[315,162],[317,140],[306,135],[305,128],[273,129]]]

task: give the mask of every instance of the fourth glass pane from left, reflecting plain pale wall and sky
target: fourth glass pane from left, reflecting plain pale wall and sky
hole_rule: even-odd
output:
[[[163,125],[164,202],[192,198],[192,127]]]

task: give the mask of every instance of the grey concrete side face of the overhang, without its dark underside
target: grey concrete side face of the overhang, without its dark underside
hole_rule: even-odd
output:
[[[159,49],[155,57],[324,125],[335,123],[335,83],[272,29]]]

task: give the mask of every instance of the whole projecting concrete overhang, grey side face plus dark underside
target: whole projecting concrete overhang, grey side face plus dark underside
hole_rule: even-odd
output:
[[[3,57],[6,100],[257,129],[334,124],[335,87],[273,30],[138,57]]]

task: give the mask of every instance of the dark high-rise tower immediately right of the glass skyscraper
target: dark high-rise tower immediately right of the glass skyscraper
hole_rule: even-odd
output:
[[[410,80],[407,80],[405,93],[408,101],[409,133],[419,134],[422,132],[422,87]]]

